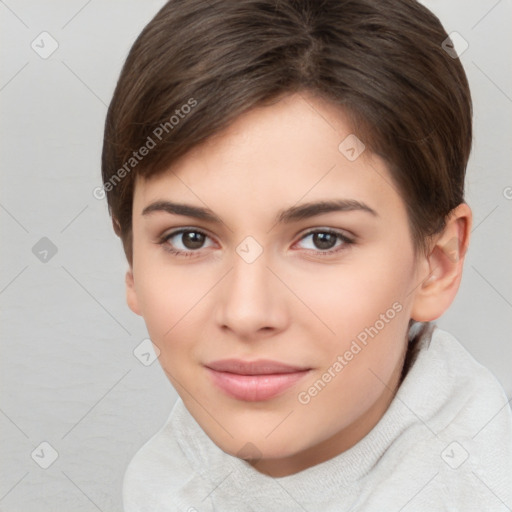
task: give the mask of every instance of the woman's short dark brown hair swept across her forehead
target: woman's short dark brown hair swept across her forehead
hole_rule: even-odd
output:
[[[464,201],[472,141],[469,86],[447,37],[414,0],[166,3],[131,48],[105,124],[104,188],[128,261],[137,175],[165,171],[244,111],[306,90],[341,107],[384,158],[425,248]]]

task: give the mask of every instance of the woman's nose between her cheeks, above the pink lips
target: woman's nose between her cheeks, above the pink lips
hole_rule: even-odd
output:
[[[275,274],[265,252],[251,263],[235,254],[233,267],[217,291],[220,328],[243,340],[285,329],[289,321],[286,288]]]

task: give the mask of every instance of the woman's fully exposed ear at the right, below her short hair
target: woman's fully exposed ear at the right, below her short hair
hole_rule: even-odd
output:
[[[472,213],[461,203],[449,215],[443,232],[433,239],[429,254],[422,256],[421,285],[415,290],[411,318],[430,322],[450,306],[459,289],[469,245]]]

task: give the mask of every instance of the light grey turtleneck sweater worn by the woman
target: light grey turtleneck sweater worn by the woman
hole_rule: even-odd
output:
[[[272,478],[218,448],[178,399],[130,462],[123,501],[125,512],[510,511],[511,409],[495,377],[436,328],[349,450]]]

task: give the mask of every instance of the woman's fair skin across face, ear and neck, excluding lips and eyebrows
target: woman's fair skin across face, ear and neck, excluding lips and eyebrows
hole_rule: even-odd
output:
[[[427,254],[417,254],[385,163],[369,151],[355,161],[339,151],[351,133],[335,106],[304,92],[285,96],[243,114],[172,169],[136,182],[127,302],[143,316],[164,371],[206,434],[235,456],[252,443],[251,463],[272,476],[328,460],[377,424],[400,383],[409,320],[438,318],[460,283],[469,207],[455,209]],[[282,209],[341,198],[364,202],[376,215],[339,211],[275,222]],[[156,201],[207,207],[222,222],[143,215]],[[184,227],[207,236],[196,245],[183,235],[159,243]],[[354,243],[333,237],[330,247],[319,245],[306,233],[311,228]],[[236,252],[248,236],[263,250],[251,263]],[[299,393],[397,303],[401,311],[301,403]],[[225,358],[312,369],[284,394],[247,402],[213,385],[204,368]]]

